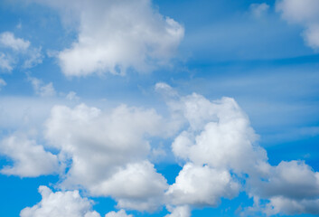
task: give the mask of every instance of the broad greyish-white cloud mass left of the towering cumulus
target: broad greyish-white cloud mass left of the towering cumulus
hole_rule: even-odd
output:
[[[84,104],[56,106],[46,127],[48,141],[70,166],[61,187],[112,196],[123,208],[150,211],[161,204],[166,180],[145,161],[150,151],[145,136],[166,134],[155,110],[123,105],[107,113]]]

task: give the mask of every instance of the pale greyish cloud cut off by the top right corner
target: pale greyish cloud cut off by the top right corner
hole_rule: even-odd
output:
[[[319,49],[319,2],[316,0],[277,0],[277,11],[289,23],[301,24],[305,42],[314,50]]]

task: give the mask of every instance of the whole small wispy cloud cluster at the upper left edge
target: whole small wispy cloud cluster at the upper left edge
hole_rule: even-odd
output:
[[[41,48],[32,47],[31,42],[15,37],[14,33],[0,33],[0,69],[13,71],[19,61],[23,69],[41,63]]]

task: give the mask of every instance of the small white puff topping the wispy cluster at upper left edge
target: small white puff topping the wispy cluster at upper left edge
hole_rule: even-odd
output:
[[[25,52],[30,46],[29,41],[24,41],[21,38],[15,38],[14,33],[10,32],[0,34],[0,44],[17,52]]]

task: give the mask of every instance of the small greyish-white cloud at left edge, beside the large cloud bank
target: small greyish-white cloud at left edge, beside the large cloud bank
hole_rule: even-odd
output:
[[[59,172],[57,156],[23,135],[6,137],[0,143],[0,153],[13,160],[13,165],[1,169],[1,174],[36,177]]]

